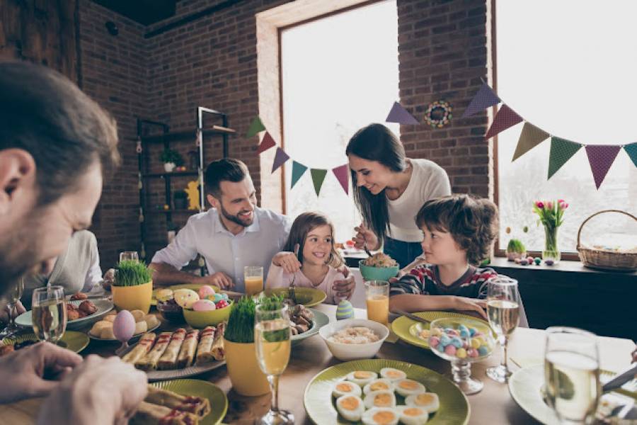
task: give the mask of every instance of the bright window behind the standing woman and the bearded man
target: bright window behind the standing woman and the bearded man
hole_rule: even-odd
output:
[[[283,30],[282,109],[286,210],[320,211],[335,224],[336,241],[352,237],[360,215],[333,168],[346,164],[350,137],[383,123],[398,100],[396,1],[381,1]],[[389,125],[398,135],[398,125]],[[290,189],[292,159],[308,167]],[[309,169],[327,169],[320,196]]]

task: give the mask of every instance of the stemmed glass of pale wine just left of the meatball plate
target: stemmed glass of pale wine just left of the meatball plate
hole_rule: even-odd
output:
[[[67,329],[67,302],[62,286],[47,286],[33,291],[31,302],[33,332],[40,341],[57,344]]]

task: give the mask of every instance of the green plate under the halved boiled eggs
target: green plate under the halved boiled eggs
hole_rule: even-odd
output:
[[[419,365],[396,360],[371,359],[348,361],[323,370],[305,388],[304,404],[308,416],[315,424],[352,424],[336,412],[332,387],[354,370],[370,370],[379,373],[381,368],[403,370],[407,378],[421,382],[427,390],[435,392],[440,399],[440,409],[430,416],[427,424],[464,425],[469,422],[469,401],[459,388],[440,373]],[[404,404],[403,397],[396,395],[396,404]]]

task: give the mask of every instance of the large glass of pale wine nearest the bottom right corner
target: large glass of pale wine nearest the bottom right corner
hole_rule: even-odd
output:
[[[546,399],[561,424],[586,424],[601,395],[595,334],[570,327],[546,329]]]

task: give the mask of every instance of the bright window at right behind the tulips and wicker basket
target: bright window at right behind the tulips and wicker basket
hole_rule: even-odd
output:
[[[497,1],[496,7],[497,91],[507,106],[551,135],[580,144],[637,141],[637,3]],[[527,249],[541,251],[544,233],[532,213],[536,199],[570,203],[560,229],[562,251],[575,251],[578,228],[593,212],[637,213],[637,168],[624,149],[599,190],[583,148],[547,181],[550,140],[511,161],[522,126],[498,137],[500,249],[520,237]],[[635,246],[637,226],[627,223],[634,222],[601,215],[586,225],[583,242]]]

